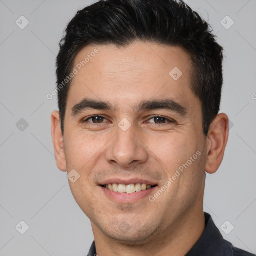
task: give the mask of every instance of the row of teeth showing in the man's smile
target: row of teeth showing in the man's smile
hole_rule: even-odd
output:
[[[118,192],[118,193],[134,193],[140,192],[141,190],[144,191],[146,189],[150,189],[151,185],[147,184],[107,184],[104,185],[105,188],[109,189],[110,191]]]

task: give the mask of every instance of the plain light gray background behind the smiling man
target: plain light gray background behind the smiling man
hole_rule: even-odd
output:
[[[50,133],[57,97],[55,57],[67,22],[89,0],[0,0],[0,255],[87,255],[89,219],[58,170]],[[229,140],[219,170],[206,176],[204,210],[235,246],[256,253],[256,0],[187,0],[225,49],[221,112]],[[20,29],[23,15],[29,24]],[[226,29],[226,16],[234,24]],[[230,19],[224,19],[225,26]],[[22,22],[24,24],[24,20]],[[24,120],[28,127],[20,126]],[[19,122],[18,122],[19,121]],[[18,123],[16,125],[16,123]],[[20,130],[21,129],[21,130]],[[23,130],[22,130],[23,129]],[[20,234],[15,226],[25,221]],[[19,225],[20,226],[20,225]]]

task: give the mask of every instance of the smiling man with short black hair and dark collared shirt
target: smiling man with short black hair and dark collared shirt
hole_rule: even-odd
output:
[[[88,255],[252,255],[203,212],[228,138],[222,47],[182,1],[77,12],[57,56],[57,166],[91,220]]]

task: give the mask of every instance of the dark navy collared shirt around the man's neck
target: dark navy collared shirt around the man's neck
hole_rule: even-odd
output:
[[[255,256],[255,254],[238,249],[224,240],[210,214],[204,212],[204,217],[205,229],[199,240],[185,256]],[[88,256],[96,255],[95,241],[93,241]]]

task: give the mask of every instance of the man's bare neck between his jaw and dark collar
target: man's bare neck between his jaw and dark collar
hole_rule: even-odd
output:
[[[155,256],[185,255],[200,238],[204,228],[205,219],[202,207],[183,214],[171,226],[167,226],[150,242],[143,245],[126,245],[106,237],[97,226],[91,222],[95,239],[97,254],[111,255],[148,255]]]

